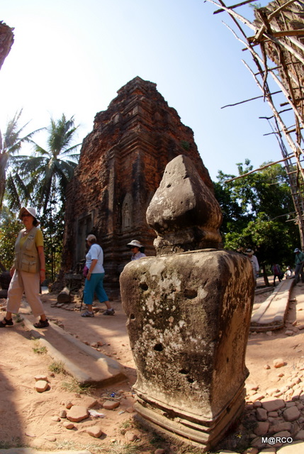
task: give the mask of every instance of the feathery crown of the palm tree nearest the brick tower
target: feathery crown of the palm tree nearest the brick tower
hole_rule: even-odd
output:
[[[47,128],[47,149],[35,145],[32,156],[23,160],[23,173],[28,178],[35,192],[38,207],[46,213],[52,199],[60,197],[64,203],[64,193],[67,183],[74,174],[79,153],[76,153],[80,143],[72,145],[78,126],[74,126],[74,116],[67,120],[64,114],[55,121],[51,118]]]

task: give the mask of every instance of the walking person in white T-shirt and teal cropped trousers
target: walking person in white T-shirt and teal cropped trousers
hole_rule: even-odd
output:
[[[103,250],[100,245],[96,243],[96,236],[89,235],[86,238],[89,246],[89,251],[86,254],[86,268],[88,269],[86,281],[84,283],[84,304],[86,304],[86,311],[81,314],[81,317],[94,317],[93,300],[94,293],[96,293],[98,300],[106,304],[106,311],[103,315],[114,315],[115,311],[111,308],[108,301],[108,296],[103,289]]]

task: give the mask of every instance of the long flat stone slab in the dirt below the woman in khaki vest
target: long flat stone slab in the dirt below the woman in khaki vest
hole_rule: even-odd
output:
[[[123,366],[95,348],[79,341],[55,323],[43,330],[33,326],[33,316],[24,317],[24,323],[33,337],[45,345],[51,358],[64,363],[65,370],[79,384],[107,386],[125,380]]]

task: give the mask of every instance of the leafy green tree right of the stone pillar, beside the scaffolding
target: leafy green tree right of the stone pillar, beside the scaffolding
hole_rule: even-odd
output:
[[[237,164],[239,176],[253,170],[249,160]],[[293,248],[298,245],[291,190],[284,167],[266,167],[232,182],[232,175],[220,172],[215,194],[223,210],[223,241],[226,249],[257,252],[264,270],[278,262],[291,265]],[[266,279],[267,283],[267,279]]]

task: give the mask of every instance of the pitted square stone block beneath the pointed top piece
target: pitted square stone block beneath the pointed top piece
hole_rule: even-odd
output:
[[[249,260],[215,249],[143,258],[125,267],[120,287],[137,413],[171,436],[214,446],[244,405]]]

